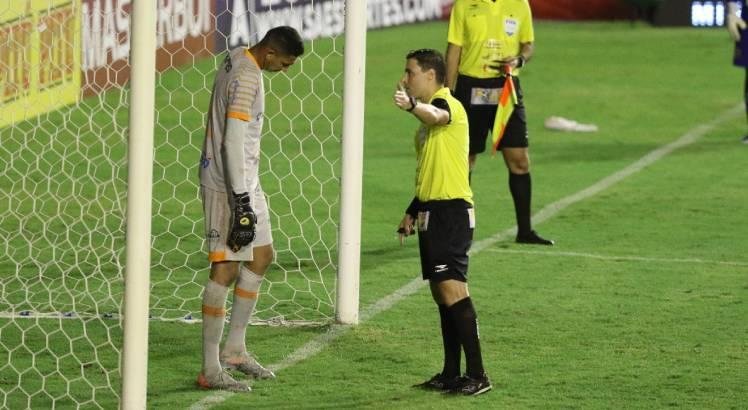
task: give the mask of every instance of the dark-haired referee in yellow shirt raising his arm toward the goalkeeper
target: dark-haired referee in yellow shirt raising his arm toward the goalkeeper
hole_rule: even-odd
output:
[[[415,136],[418,165],[415,198],[400,222],[405,236],[418,230],[421,272],[439,308],[444,368],[417,387],[478,395],[491,390],[483,369],[478,322],[467,289],[468,249],[475,215],[468,183],[468,122],[465,110],[444,86],[444,58],[423,49],[406,57],[394,100],[421,122]],[[460,377],[461,349],[465,376]]]

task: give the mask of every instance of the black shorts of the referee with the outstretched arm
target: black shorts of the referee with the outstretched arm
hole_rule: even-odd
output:
[[[474,215],[473,206],[462,199],[420,203],[416,227],[423,279],[467,282]]]

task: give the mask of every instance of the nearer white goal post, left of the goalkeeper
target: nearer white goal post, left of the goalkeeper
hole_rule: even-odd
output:
[[[151,279],[156,4],[134,0],[131,13],[130,115],[127,151],[127,251],[120,408],[146,408]]]

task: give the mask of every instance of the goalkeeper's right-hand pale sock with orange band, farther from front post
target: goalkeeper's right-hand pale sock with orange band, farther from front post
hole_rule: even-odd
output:
[[[247,325],[257,305],[262,279],[262,275],[252,272],[244,265],[239,270],[239,279],[234,288],[234,304],[231,307],[229,335],[223,349],[225,354],[240,354],[247,350],[244,342]]]

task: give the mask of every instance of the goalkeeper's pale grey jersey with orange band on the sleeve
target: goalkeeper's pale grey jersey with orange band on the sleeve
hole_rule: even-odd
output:
[[[247,175],[249,192],[259,186],[260,139],[262,137],[265,90],[262,70],[246,48],[231,50],[226,56],[213,84],[213,94],[205,128],[205,141],[200,157],[200,184],[207,188],[230,192],[225,172],[223,144],[226,122],[236,118],[247,123],[244,151],[246,162],[242,174]]]

